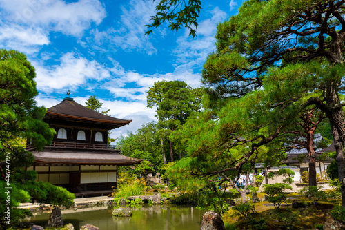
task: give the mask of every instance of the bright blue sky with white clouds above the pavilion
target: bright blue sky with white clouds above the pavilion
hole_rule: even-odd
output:
[[[1,0],[0,43],[28,56],[40,106],[58,104],[68,90],[80,104],[97,95],[101,111],[133,120],[113,131],[118,137],[155,119],[155,110],[146,107],[154,82],[178,79],[201,86],[217,23],[235,15],[242,0],[202,4],[193,38],[166,25],[144,35],[155,15],[151,0]]]

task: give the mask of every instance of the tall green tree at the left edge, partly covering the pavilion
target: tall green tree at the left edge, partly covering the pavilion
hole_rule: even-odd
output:
[[[34,67],[26,55],[0,50],[0,229],[16,224],[25,211],[15,208],[20,202],[29,202],[34,195],[27,188],[35,183],[36,173],[23,170],[32,165],[33,156],[25,150],[23,140],[31,140],[41,150],[55,134],[43,122],[46,108],[34,101],[38,94],[34,77]],[[5,193],[8,191],[10,196]],[[6,214],[8,207],[10,220]]]

